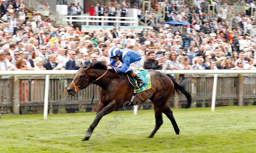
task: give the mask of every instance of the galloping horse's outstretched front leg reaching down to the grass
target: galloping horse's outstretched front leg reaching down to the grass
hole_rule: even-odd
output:
[[[89,140],[90,136],[92,135],[92,131],[98,125],[99,121],[101,120],[101,118],[103,116],[111,113],[112,111],[116,111],[118,108],[119,107],[117,107],[116,101],[112,101],[105,108],[103,108],[100,112],[98,112],[94,121],[92,122],[92,124],[90,125],[88,130],[86,131],[85,137],[84,137],[84,139],[82,139],[82,141]]]

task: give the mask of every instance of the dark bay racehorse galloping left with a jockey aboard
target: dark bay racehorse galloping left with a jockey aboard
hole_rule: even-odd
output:
[[[99,121],[104,115],[118,110],[121,106],[127,106],[130,100],[134,87],[130,84],[125,73],[120,73],[119,78],[115,71],[107,72],[107,65],[105,61],[96,61],[82,67],[74,74],[74,79],[67,88],[69,95],[74,95],[77,91],[88,87],[89,85],[96,84],[101,87],[100,101],[98,103],[97,114],[85,133],[82,141],[88,140],[92,135],[94,128],[98,125]],[[171,109],[166,105],[172,95],[175,93],[180,94],[181,91],[187,98],[185,108],[191,105],[191,95],[186,90],[187,80],[179,81],[177,83],[172,78],[164,75],[163,73],[155,70],[148,70],[151,75],[151,88],[148,90],[137,93],[131,106],[138,105],[145,102],[148,98],[154,104],[155,110],[155,129],[152,131],[148,138],[152,138],[159,127],[163,124],[162,113],[164,113],[172,122],[172,126],[176,134],[180,133],[180,129],[176,124]],[[135,100],[134,99],[134,100]]]

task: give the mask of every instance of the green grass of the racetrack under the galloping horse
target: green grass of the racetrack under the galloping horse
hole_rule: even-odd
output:
[[[0,153],[255,153],[256,106],[173,109],[180,135],[163,114],[163,125],[153,138],[147,138],[154,126],[154,110],[115,111],[104,116],[91,141],[80,140],[96,113],[48,115],[1,115]],[[120,124],[108,123],[121,115]],[[107,126],[109,134],[106,131]],[[113,126],[112,126],[113,127]],[[102,131],[101,131],[102,130]],[[103,134],[96,140],[98,133]],[[86,143],[87,144],[84,144]],[[83,148],[84,144],[84,148]]]

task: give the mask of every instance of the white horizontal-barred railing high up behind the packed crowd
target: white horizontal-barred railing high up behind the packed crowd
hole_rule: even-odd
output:
[[[108,19],[111,19],[111,20],[108,20]],[[125,21],[122,21],[121,19],[124,19]],[[124,25],[128,25],[128,26],[138,26],[138,17],[66,15],[66,22],[68,23],[84,22],[85,23],[84,25],[89,25],[89,23],[95,23],[95,22],[101,23],[101,25],[104,25],[104,23],[108,24],[110,22],[110,23],[114,23],[114,25],[117,25],[117,26],[121,25],[121,23],[124,23]]]

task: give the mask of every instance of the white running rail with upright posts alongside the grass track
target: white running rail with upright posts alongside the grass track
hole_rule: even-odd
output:
[[[157,70],[164,74],[215,74],[212,91],[212,112],[215,111],[216,87],[218,74],[256,74],[255,70]],[[44,119],[48,113],[49,75],[74,75],[77,70],[45,70],[45,71],[0,71],[0,75],[46,75],[44,94]],[[135,107],[134,109],[137,109]],[[134,110],[137,114],[137,110]]]

